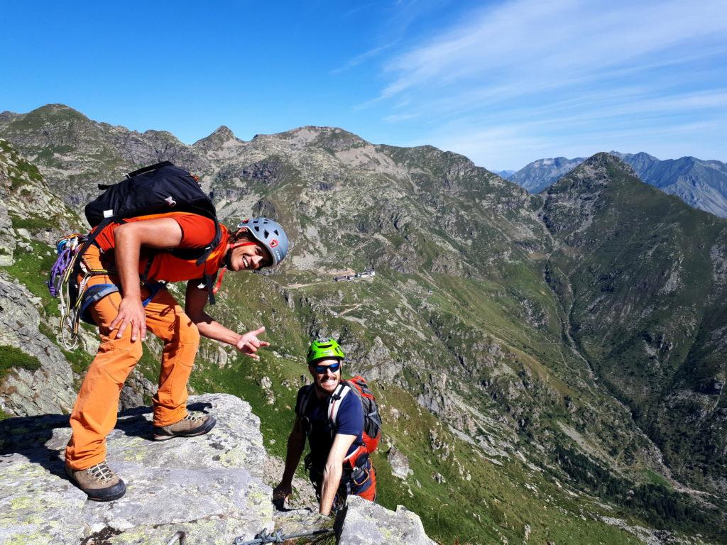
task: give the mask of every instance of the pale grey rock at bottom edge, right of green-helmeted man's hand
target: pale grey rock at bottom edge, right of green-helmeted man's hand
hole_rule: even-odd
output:
[[[422,520],[406,507],[390,511],[358,496],[348,498],[340,545],[436,545]]]

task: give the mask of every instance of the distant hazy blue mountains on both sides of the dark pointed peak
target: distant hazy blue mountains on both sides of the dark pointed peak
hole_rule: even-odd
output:
[[[648,153],[610,152],[629,164],[638,177],[664,193],[677,195],[719,217],[727,217],[727,164],[694,157],[659,161]],[[530,193],[540,193],[584,161],[583,158],[538,159],[508,177]]]

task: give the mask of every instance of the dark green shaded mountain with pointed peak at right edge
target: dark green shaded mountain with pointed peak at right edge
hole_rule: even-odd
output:
[[[675,472],[726,490],[727,222],[605,154],[550,187],[542,214],[579,349]]]

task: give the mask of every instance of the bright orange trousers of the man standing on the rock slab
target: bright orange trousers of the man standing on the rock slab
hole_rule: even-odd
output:
[[[102,265],[96,246],[90,246],[84,254],[84,263],[89,268],[109,268]],[[89,286],[99,283],[121,286],[116,276],[97,275],[89,280]],[[148,294],[142,288],[142,299]],[[86,469],[106,459],[106,435],[116,426],[121,388],[142,355],[140,339],[131,341],[130,326],[121,339],[116,339],[118,330],[113,335],[109,331],[120,303],[121,294],[117,292],[91,307],[101,344],[71,413],[73,435],[65,449],[65,461],[74,470]],[[199,332],[166,289],[158,291],[145,311],[147,330],[164,342],[159,387],[153,397],[154,425],[168,426],[187,413],[187,382],[199,347]]]

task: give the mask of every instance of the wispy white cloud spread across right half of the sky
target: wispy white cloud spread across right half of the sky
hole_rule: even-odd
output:
[[[475,160],[497,149],[511,161],[497,168],[579,143],[581,154],[603,142],[624,150],[619,134],[670,149],[688,134],[698,147],[694,127],[713,135],[727,121],[726,35],[722,0],[508,1],[390,59],[390,83],[360,108],[385,106],[385,122],[419,124]]]

